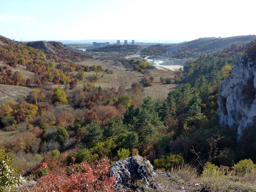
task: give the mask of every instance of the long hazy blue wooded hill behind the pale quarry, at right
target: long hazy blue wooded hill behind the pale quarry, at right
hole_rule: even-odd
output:
[[[199,38],[177,44],[157,44],[145,47],[141,54],[159,55],[174,58],[196,58],[199,55],[213,53],[233,44],[246,44],[256,39],[256,35],[242,35],[227,38]]]

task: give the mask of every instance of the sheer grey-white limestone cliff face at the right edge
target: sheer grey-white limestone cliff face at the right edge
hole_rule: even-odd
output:
[[[222,126],[237,125],[238,135],[256,116],[256,44],[235,63],[219,88],[219,122]]]

